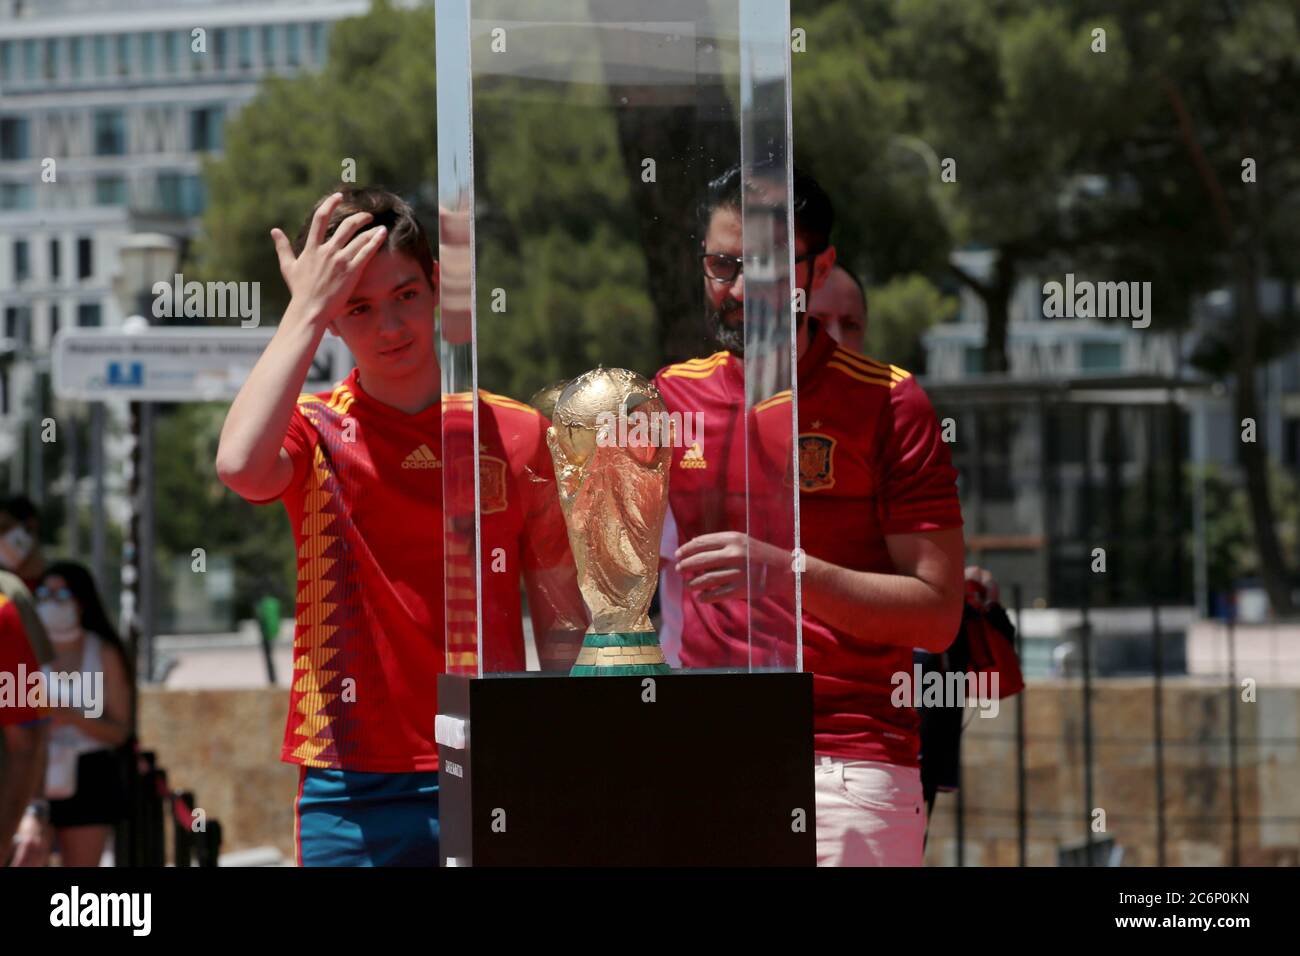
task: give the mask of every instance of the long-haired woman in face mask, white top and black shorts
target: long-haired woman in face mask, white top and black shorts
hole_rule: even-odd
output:
[[[82,564],[56,562],[35,589],[36,611],[55,648],[53,728],[46,769],[49,825],[64,866],[98,866],[113,825],[126,812],[125,780],[114,753],[130,736],[131,682],[126,648],[113,630],[94,578]]]

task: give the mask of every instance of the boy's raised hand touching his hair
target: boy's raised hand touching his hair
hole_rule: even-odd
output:
[[[302,255],[294,255],[292,243],[282,230],[270,230],[280,258],[280,274],[285,277],[292,303],[321,323],[338,317],[365,265],[387,238],[384,226],[359,233],[373,217],[368,212],[358,212],[339,222],[326,239],[329,219],[342,202],[343,194],[335,193],[320,204],[312,216]]]

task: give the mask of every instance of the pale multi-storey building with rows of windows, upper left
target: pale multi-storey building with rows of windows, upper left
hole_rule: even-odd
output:
[[[320,69],[368,7],[0,0],[0,459],[22,457],[55,333],[121,324],[122,241],[191,237],[226,121],[266,78]]]

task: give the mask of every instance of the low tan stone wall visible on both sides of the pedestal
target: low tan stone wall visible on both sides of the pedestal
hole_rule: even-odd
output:
[[[1261,685],[1239,702],[1238,805],[1247,865],[1300,865],[1300,687]],[[965,856],[968,866],[1017,862],[1015,710],[1024,706],[1028,862],[1052,866],[1084,836],[1082,683],[1043,680],[1002,701],[996,718],[971,711],[963,737]],[[192,790],[221,821],[226,849],[274,845],[292,853],[295,767],[280,762],[282,688],[165,691],[140,697],[140,737],[173,787]],[[1228,691],[1195,679],[1164,691],[1166,864],[1230,860]],[[1092,705],[1092,806],[1126,865],[1156,855],[1156,748],[1149,679],[1098,682]],[[1290,818],[1290,819],[1287,819]],[[941,793],[927,862],[956,861],[956,797]]]

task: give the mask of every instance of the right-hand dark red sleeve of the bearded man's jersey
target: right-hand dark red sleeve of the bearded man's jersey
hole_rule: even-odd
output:
[[[909,535],[962,527],[957,470],[930,398],[914,377],[890,389],[880,428],[880,529]]]

